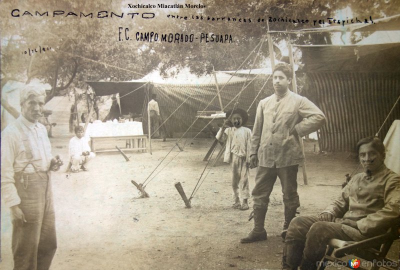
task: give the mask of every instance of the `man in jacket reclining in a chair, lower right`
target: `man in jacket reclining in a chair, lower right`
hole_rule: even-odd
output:
[[[384,165],[377,137],[357,143],[363,172],[352,177],[319,216],[297,216],[286,233],[282,269],[316,269],[331,238],[360,241],[398,223],[400,176]]]

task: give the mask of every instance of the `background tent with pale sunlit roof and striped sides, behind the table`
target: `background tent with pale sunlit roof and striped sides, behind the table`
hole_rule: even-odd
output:
[[[143,130],[147,130],[147,93],[150,96],[152,93],[156,93],[161,116],[166,119],[169,115],[172,115],[165,123],[168,133],[185,132],[195,120],[197,111],[203,110],[217,93],[212,74],[201,77],[189,74],[189,77],[183,75],[165,80],[159,80],[158,76],[155,78],[154,75],[147,75],[142,79],[132,81],[87,81],[87,83],[93,88],[96,95],[119,93],[122,114],[141,113]],[[221,89],[222,104],[226,106],[226,109],[229,109],[234,105],[231,100],[242,89],[246,79],[223,72],[216,72],[216,78],[219,89]],[[157,82],[154,82],[153,79]],[[246,84],[248,83],[249,81]],[[251,82],[243,90],[239,106],[247,109],[257,92],[254,82]],[[262,93],[259,98],[264,96]],[[257,104],[257,101],[252,104],[249,111],[249,122],[254,119]],[[206,110],[221,110],[218,98],[214,98]],[[197,121],[189,131],[200,131],[203,127],[204,123]]]

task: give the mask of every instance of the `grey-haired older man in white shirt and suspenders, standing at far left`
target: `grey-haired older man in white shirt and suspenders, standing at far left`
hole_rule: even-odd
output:
[[[20,91],[21,115],[1,132],[1,198],[10,207],[14,269],[48,269],[57,248],[50,170],[62,165],[51,155],[42,116],[44,89]]]

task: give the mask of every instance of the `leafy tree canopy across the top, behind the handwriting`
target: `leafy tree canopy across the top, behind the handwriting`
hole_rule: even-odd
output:
[[[186,3],[190,4],[188,1]],[[269,16],[311,20],[309,23],[269,23],[270,30],[279,31],[317,27],[312,19],[326,19],[333,16],[336,10],[347,6],[354,16],[362,17],[371,15],[378,18],[400,12],[396,0],[201,0],[201,4],[206,8],[129,9],[126,0],[46,0],[26,2],[20,6],[10,0],[2,1],[1,87],[10,79],[29,82],[36,77],[52,86],[47,97],[49,100],[52,96],[64,94],[71,86],[87,88],[86,80],[137,79],[157,67],[165,73],[171,67],[179,69],[188,66],[196,74],[209,73],[212,67],[215,70],[234,70],[242,62],[242,68],[249,68],[255,53],[245,59],[267,32],[266,20]],[[33,15],[12,17],[11,10],[14,8],[18,8],[20,14],[27,10]],[[117,14],[124,12],[125,17],[96,18],[96,12],[105,9]],[[38,16],[34,13],[36,10],[49,11],[49,15]],[[65,10],[65,14],[52,16],[53,10]],[[80,11],[86,14],[93,12],[93,18],[65,16],[69,11],[78,15]],[[143,19],[139,15],[132,19],[127,16],[128,12],[153,12],[155,17]],[[168,14],[188,18],[172,18]],[[203,19],[200,19],[201,16]],[[224,20],[221,21],[222,17]],[[258,18],[264,21],[258,22]],[[128,27],[133,40],[119,41],[118,27]],[[201,33],[231,34],[234,42],[136,41],[136,31],[193,34],[198,38]],[[278,42],[287,38],[287,34],[275,33],[273,38]],[[292,43],[297,44],[330,42],[327,33],[291,34],[290,38]],[[28,48],[39,45],[49,46],[51,50],[32,56],[24,54]],[[254,67],[260,67],[269,56],[266,41],[258,56]]]

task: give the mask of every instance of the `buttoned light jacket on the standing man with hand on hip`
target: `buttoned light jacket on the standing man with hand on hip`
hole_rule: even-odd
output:
[[[300,136],[318,130],[325,123],[323,112],[306,97],[288,90],[278,98],[272,94],[258,103],[251,136],[250,155],[258,154],[258,165],[286,167],[303,160]]]

